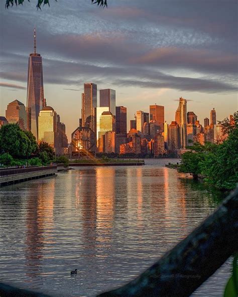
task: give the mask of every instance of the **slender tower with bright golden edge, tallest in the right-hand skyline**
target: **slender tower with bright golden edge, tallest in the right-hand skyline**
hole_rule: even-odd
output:
[[[180,147],[185,148],[187,146],[187,100],[182,97],[179,98],[175,119],[178,120],[180,130]]]

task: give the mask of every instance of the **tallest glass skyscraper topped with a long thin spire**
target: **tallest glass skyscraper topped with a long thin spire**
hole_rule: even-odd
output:
[[[28,60],[27,113],[28,130],[38,140],[38,116],[44,103],[42,57],[36,52],[36,30],[34,30],[34,53]]]

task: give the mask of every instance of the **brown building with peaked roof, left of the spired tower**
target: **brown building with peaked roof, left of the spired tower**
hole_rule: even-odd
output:
[[[22,130],[27,129],[26,106],[19,100],[14,100],[8,104],[6,118],[10,124],[19,124]]]

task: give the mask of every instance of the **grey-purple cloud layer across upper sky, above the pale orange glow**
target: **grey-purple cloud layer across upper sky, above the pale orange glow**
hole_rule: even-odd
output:
[[[44,84],[77,90],[94,81],[115,89],[235,92],[235,8],[232,0],[216,6],[198,0],[173,5],[137,0],[111,2],[104,10],[73,1],[44,13],[32,4],[3,10],[1,24],[8,30],[2,32],[0,77],[26,82],[37,20]]]

